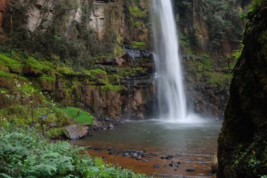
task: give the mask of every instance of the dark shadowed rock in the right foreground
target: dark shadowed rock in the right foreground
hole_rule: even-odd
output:
[[[266,8],[256,7],[248,18],[219,135],[219,178],[261,177],[267,172]]]

